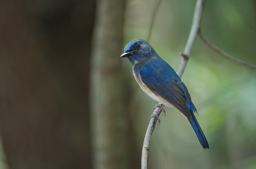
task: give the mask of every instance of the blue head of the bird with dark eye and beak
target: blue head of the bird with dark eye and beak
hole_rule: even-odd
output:
[[[158,56],[153,47],[144,39],[135,39],[130,41],[124,47],[124,53],[121,58],[127,57],[132,65],[146,62],[150,58]]]

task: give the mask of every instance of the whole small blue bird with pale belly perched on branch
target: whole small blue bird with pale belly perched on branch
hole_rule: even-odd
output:
[[[188,89],[153,47],[144,39],[134,39],[126,44],[120,57],[129,59],[138,85],[150,98],[159,102],[154,108],[160,107],[162,111],[164,106],[175,107],[189,120],[202,147],[209,149],[207,139],[195,118],[194,113],[197,113],[197,110]],[[153,113],[150,118],[155,116],[159,120],[158,114],[159,112]]]

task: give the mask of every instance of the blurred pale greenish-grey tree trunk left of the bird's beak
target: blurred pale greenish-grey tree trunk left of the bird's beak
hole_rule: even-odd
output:
[[[129,128],[129,81],[120,58],[126,0],[97,2],[91,74],[93,165],[95,169],[139,168],[140,154],[135,153]]]

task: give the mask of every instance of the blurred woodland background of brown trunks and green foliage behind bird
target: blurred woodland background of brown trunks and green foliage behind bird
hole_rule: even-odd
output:
[[[0,1],[0,169],[139,169],[156,102],[119,56],[158,0]],[[162,0],[148,40],[177,70],[195,0]],[[256,64],[256,0],[207,1],[202,33]],[[255,169],[256,70],[197,38],[182,76],[209,142],[165,108],[148,168]]]

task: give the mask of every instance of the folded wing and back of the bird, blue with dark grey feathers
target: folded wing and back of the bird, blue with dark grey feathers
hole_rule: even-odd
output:
[[[191,113],[196,109],[189,92],[169,64],[161,58],[152,58],[141,67],[139,74],[142,82],[151,91],[170,102],[185,117],[192,117]]]

